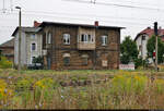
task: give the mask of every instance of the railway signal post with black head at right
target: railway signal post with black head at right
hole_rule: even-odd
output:
[[[154,34],[155,34],[155,38],[156,38],[156,41],[155,41],[155,70],[157,71],[157,22],[154,23]]]

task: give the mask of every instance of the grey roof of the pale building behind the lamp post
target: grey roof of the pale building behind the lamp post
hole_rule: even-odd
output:
[[[40,27],[22,27],[22,32],[25,32],[25,33],[37,33]],[[19,30],[19,27],[16,27],[12,36],[15,36],[17,30]]]

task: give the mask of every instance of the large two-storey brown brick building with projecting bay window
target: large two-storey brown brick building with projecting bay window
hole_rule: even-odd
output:
[[[43,22],[44,64],[51,70],[110,70],[119,66],[122,27]]]

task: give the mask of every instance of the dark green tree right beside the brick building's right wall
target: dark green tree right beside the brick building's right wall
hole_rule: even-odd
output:
[[[130,61],[136,61],[138,59],[138,49],[136,42],[127,36],[122,44],[120,45],[120,61],[124,64],[128,64]]]

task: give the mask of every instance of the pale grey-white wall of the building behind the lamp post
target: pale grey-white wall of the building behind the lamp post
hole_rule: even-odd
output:
[[[32,64],[32,57],[42,55],[42,35],[36,34],[36,39],[32,39],[32,33],[22,33],[21,40],[21,64],[22,66]],[[32,44],[36,44],[36,51],[32,51]],[[19,64],[19,33],[14,41],[14,64]]]

